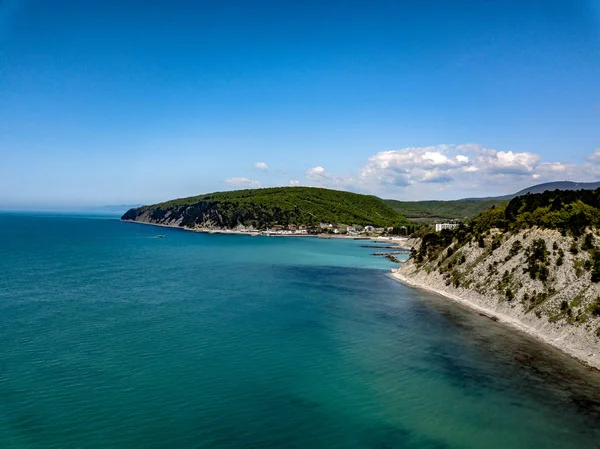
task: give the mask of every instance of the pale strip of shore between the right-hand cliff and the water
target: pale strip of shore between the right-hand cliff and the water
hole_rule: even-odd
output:
[[[596,370],[600,370],[600,357],[598,357],[598,355],[595,353],[595,352],[597,352],[598,349],[595,348],[593,345],[582,344],[581,348],[575,348],[575,347],[573,347],[572,344],[567,344],[565,342],[565,339],[562,338],[561,336],[556,336],[556,335],[550,336],[546,332],[543,332],[541,329],[538,329],[534,326],[530,326],[530,325],[524,323],[523,321],[519,320],[518,318],[509,316],[509,315],[506,315],[503,313],[499,313],[497,310],[483,307],[479,304],[474,303],[473,301],[461,298],[458,295],[454,295],[447,291],[436,289],[425,283],[418,282],[418,281],[411,279],[411,278],[403,275],[402,273],[400,273],[399,269],[392,270],[391,276],[392,276],[392,278],[402,282],[405,285],[408,285],[408,286],[414,287],[414,288],[418,288],[421,290],[426,290],[428,292],[443,296],[452,301],[460,303],[460,304],[464,305],[465,307],[468,307],[482,315],[485,315],[485,316],[493,319],[494,321],[512,326],[512,327],[520,330],[521,332],[527,333],[528,335],[534,337],[535,339],[537,339],[539,341],[542,341],[546,344],[549,344],[549,345],[559,349],[560,351],[564,352],[565,354],[579,360],[583,364],[585,364],[591,368],[594,368]]]

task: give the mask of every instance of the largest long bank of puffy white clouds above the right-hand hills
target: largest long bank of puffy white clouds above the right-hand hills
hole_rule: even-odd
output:
[[[478,144],[410,147],[371,156],[358,174],[334,175],[322,166],[306,172],[316,184],[379,195],[437,197],[512,193],[547,181],[597,181],[600,149],[583,164],[545,162],[539,154],[497,151]]]

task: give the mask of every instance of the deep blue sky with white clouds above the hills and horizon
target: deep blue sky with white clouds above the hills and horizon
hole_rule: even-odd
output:
[[[600,6],[0,1],[0,207],[600,180]]]

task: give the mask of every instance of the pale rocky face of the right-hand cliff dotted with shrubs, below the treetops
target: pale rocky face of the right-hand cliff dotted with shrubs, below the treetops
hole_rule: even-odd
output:
[[[393,276],[511,324],[600,369],[600,282],[592,280],[590,242],[598,247],[600,234],[588,229],[575,239],[554,230],[493,229],[483,247],[478,241],[461,247],[453,243],[422,261],[411,257]]]

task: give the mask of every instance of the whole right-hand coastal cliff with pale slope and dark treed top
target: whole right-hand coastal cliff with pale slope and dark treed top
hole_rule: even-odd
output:
[[[600,190],[518,197],[414,242],[393,276],[600,369]]]

